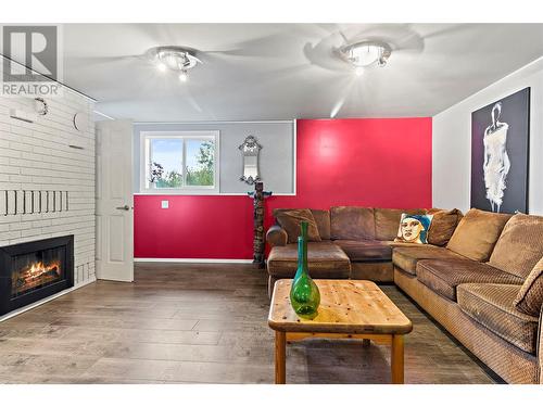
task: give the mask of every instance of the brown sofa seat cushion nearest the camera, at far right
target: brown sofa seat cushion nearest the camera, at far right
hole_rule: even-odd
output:
[[[535,354],[538,318],[515,309],[513,301],[520,285],[460,284],[460,309],[500,338],[525,352]]]

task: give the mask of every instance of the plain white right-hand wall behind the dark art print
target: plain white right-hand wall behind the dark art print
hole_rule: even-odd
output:
[[[543,58],[433,117],[432,200],[434,207],[469,209],[471,112],[531,88],[529,213],[543,215]]]

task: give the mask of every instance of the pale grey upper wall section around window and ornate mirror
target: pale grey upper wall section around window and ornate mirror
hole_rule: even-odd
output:
[[[220,138],[220,193],[245,193],[254,187],[239,180],[242,158],[238,147],[245,137],[256,137],[262,145],[260,175],[266,191],[274,194],[294,192],[295,123],[283,122],[206,122],[137,124],[134,126],[134,191],[140,192],[140,131],[218,130]]]

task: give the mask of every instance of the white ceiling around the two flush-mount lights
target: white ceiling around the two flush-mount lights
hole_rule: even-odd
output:
[[[381,39],[361,77],[332,53]],[[179,82],[141,55],[197,49]],[[432,116],[543,55],[543,24],[71,24],[64,82],[137,122]]]

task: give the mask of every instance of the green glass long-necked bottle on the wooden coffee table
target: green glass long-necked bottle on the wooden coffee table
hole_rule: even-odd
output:
[[[320,292],[307,270],[307,222],[302,221],[302,236],[298,238],[298,270],[290,289],[290,303],[302,318],[317,316]]]

